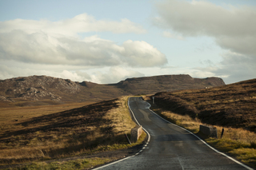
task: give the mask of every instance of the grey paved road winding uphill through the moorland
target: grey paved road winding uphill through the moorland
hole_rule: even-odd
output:
[[[150,143],[137,156],[97,169],[248,169],[214,152],[186,130],[152,113],[150,104],[130,98],[130,109],[150,133]]]

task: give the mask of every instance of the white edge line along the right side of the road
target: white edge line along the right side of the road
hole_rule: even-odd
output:
[[[142,100],[142,99],[141,99],[141,100]],[[143,101],[143,100],[142,100],[142,101]],[[146,102],[146,101],[144,101],[144,102]],[[148,102],[146,102],[146,103],[148,103]],[[151,111],[152,113],[154,113],[153,110],[150,109],[150,111]],[[157,113],[154,113],[154,114],[157,115],[158,117],[160,117]],[[166,122],[172,124],[172,125],[175,125],[175,124],[171,123],[170,121],[165,120],[165,119],[162,118],[162,117],[160,117],[160,118],[161,118],[162,120],[164,120],[164,121],[166,121]],[[178,128],[182,128],[182,127],[179,126],[179,125],[175,125],[175,126],[177,126]],[[190,132],[190,131],[187,130],[186,128],[182,128],[182,129],[183,129],[183,130],[186,130],[186,132]],[[217,149],[215,149],[215,148],[211,147],[209,144],[207,144],[207,143],[206,143],[204,140],[202,140],[200,137],[196,136],[193,132],[190,132],[190,134],[192,134],[192,135],[194,135],[195,137],[197,137],[198,140],[201,140],[203,144],[206,144],[206,146],[208,146],[209,148],[213,149],[215,152],[218,152],[219,154],[221,154],[221,155],[223,155],[223,156],[226,156],[227,158],[229,158],[230,160],[233,160],[233,161],[234,161],[235,163],[237,163],[237,164],[240,164],[240,165],[243,166],[244,168],[247,168],[247,169],[249,169],[249,170],[254,170],[254,168],[250,168],[250,167],[248,167],[246,164],[242,164],[242,163],[239,162],[238,160],[234,160],[234,158],[232,158],[232,157],[230,157],[230,156],[227,156],[225,153],[219,152]]]

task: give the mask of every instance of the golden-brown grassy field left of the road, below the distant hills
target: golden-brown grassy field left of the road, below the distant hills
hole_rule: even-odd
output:
[[[133,146],[127,98],[0,109],[0,165]]]

